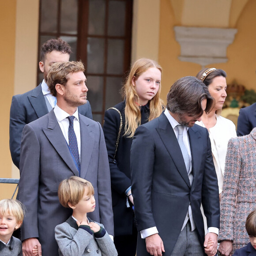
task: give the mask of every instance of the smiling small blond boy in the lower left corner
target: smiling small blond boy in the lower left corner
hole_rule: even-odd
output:
[[[18,200],[0,200],[0,255],[22,256],[21,241],[12,236],[24,218],[24,207]]]

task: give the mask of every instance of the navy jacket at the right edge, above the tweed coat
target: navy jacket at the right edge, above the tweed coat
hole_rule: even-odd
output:
[[[237,136],[249,134],[256,127],[256,103],[242,108],[237,119]]]

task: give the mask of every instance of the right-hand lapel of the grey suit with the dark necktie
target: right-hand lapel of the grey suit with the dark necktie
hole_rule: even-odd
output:
[[[80,160],[80,176],[86,176],[90,158],[94,147],[95,132],[93,125],[86,123],[86,120],[79,114],[80,133],[81,133],[81,160]]]

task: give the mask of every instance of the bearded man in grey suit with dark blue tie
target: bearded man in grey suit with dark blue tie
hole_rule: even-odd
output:
[[[57,104],[23,129],[17,198],[27,210],[21,228],[25,256],[32,256],[35,245],[43,255],[58,255],[54,228],[72,214],[59,203],[58,185],[72,175],[93,184],[98,204],[88,216],[113,235],[110,172],[103,131],[98,122],[78,113],[78,106],[86,103],[88,90],[83,72],[81,62],[53,64],[47,78]]]

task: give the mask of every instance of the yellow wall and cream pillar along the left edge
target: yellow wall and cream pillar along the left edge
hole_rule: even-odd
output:
[[[19,178],[9,150],[11,98],[36,86],[39,0],[0,0],[0,177]],[[0,184],[0,199],[11,197],[15,184]]]

